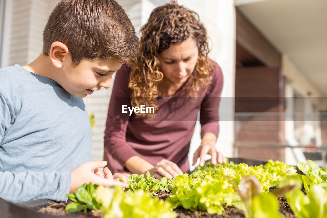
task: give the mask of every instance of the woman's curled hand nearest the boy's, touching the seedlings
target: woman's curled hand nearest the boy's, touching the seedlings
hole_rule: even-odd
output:
[[[173,177],[183,174],[177,164],[166,159],[159,161],[154,168],[149,170],[149,172],[158,179],[162,179],[163,176],[166,176],[168,179],[172,179]],[[146,175],[146,172],[144,175]]]

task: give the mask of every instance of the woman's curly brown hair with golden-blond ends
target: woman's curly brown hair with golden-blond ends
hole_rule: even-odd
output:
[[[163,79],[163,73],[157,55],[168,49],[170,44],[181,43],[188,37],[195,39],[198,46],[198,60],[188,80],[189,95],[197,97],[198,92],[210,83],[212,65],[207,58],[207,32],[197,13],[171,1],[154,9],[140,32],[140,50],[131,66],[129,78],[132,106],[146,105],[158,110],[158,84]],[[136,115],[155,117],[154,113]]]

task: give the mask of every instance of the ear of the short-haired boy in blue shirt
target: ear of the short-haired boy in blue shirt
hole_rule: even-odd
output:
[[[53,42],[50,48],[50,60],[57,68],[61,68],[68,60],[71,62],[68,47],[61,42]]]

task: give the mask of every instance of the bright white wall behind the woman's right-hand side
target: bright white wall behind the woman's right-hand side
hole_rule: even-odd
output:
[[[235,96],[235,40],[236,20],[234,1],[232,0],[202,0],[187,1],[179,0],[178,3],[185,5],[199,14],[207,29],[211,53],[209,57],[217,62],[223,72],[224,84],[219,107],[219,136],[216,148],[225,156],[232,157],[234,143],[234,101]],[[191,141],[189,161],[193,159],[193,153],[201,143],[199,135],[200,125],[197,122],[196,129]],[[210,156],[208,155],[207,158]]]

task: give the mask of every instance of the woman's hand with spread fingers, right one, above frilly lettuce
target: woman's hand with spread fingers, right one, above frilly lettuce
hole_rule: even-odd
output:
[[[211,155],[211,163],[214,165],[216,165],[217,161],[220,164],[226,163],[225,156],[215,148],[216,139],[217,137],[212,133],[206,133],[202,137],[202,143],[193,156],[193,166],[197,163],[198,158],[200,158],[200,166],[203,167],[207,154]]]

